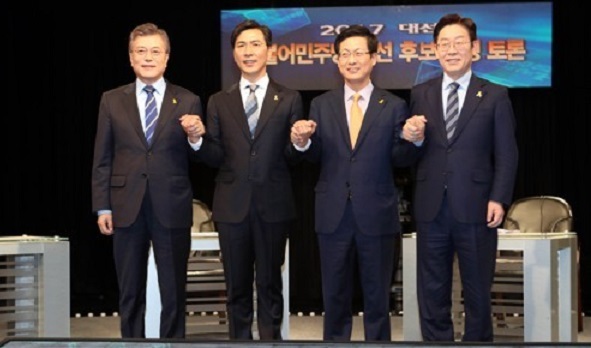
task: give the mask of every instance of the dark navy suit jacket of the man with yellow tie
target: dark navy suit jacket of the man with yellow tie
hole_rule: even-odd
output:
[[[416,146],[400,137],[409,115],[407,104],[375,88],[352,150],[344,99],[344,88],[338,88],[314,98],[310,108],[310,119],[316,121],[317,128],[305,154],[321,166],[316,184],[316,231],[334,232],[351,199],[361,231],[398,233],[393,167],[413,164],[418,154]]]

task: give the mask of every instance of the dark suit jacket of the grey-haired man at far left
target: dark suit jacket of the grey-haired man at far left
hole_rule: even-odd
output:
[[[192,92],[167,83],[152,146],[142,129],[135,83],[102,95],[92,169],[92,209],[110,209],[115,227],[128,227],[149,191],[160,223],[190,228],[193,193],[189,158],[193,156],[179,118],[202,115]]]

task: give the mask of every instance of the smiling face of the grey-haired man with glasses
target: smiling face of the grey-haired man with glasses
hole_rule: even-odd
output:
[[[169,53],[160,35],[138,36],[130,45],[129,62],[135,75],[146,84],[153,84],[166,70]]]

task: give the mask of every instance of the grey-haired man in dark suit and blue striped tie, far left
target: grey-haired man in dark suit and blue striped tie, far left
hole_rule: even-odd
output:
[[[203,132],[201,101],[164,79],[166,32],[152,23],[129,38],[134,83],[102,95],[92,166],[92,207],[98,227],[113,235],[121,335],[145,337],[150,245],[162,301],[160,337],[185,336],[187,261],[193,193],[190,138]],[[189,133],[182,127],[187,124]]]

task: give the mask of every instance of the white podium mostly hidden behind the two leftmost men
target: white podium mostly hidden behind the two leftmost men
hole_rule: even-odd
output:
[[[220,250],[218,234],[216,232],[193,232],[191,233],[191,250]],[[285,262],[281,268],[283,280],[283,321],[281,322],[281,336],[289,338],[289,241],[285,246]],[[146,291],[146,337],[160,337],[160,290],[158,288],[158,272],[154,254],[150,249],[148,260],[148,284]]]

